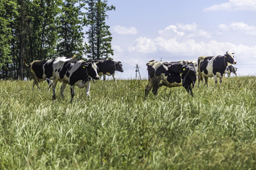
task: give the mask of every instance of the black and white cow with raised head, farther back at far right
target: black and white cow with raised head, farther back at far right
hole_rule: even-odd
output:
[[[210,57],[198,57],[198,87],[203,78],[208,86],[209,77],[214,77],[215,85],[217,84],[219,78],[221,84],[228,63],[236,64],[233,54],[234,53],[226,52],[224,56],[218,55]]]

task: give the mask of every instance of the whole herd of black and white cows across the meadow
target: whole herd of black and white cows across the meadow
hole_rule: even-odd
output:
[[[25,63],[26,64],[26,63]],[[145,88],[145,97],[148,96],[149,91],[154,95],[157,94],[159,87],[176,87],[183,86],[191,96],[193,96],[192,89],[196,84],[198,77],[198,86],[200,81],[205,79],[206,85],[208,78],[214,77],[215,84],[217,79],[220,79],[220,84],[224,74],[233,72],[236,75],[237,69],[231,64],[236,64],[233,53],[226,52],[221,56],[201,56],[198,61],[180,61],[180,62],[156,62],[151,60],[146,63],[149,83]],[[113,60],[78,60],[68,57],[57,57],[53,60],[35,60],[27,67],[30,67],[33,75],[33,88],[36,86],[39,89],[38,83],[40,81],[48,81],[48,87],[53,88],[53,99],[55,99],[55,87],[58,81],[62,82],[60,87],[60,94],[64,96],[64,90],[67,84],[71,89],[71,102],[75,95],[74,88],[86,88],[86,95],[90,95],[90,80],[100,79],[100,76],[112,75],[115,81],[115,72],[124,72],[122,69],[122,62],[114,62]],[[51,82],[53,80],[53,82]]]

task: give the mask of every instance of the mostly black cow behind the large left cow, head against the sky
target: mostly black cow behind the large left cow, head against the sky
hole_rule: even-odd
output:
[[[113,60],[109,59],[89,60],[89,62],[97,62],[97,72],[100,77],[103,75],[104,81],[106,79],[106,74],[107,76],[112,75],[114,81],[116,81],[114,72],[124,72],[124,69],[122,69],[122,62],[114,62]]]

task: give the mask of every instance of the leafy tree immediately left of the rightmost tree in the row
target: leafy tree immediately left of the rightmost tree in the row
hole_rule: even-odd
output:
[[[83,4],[78,4],[77,0],[63,2],[62,12],[58,18],[60,25],[58,27],[57,52],[60,56],[73,57],[73,55],[77,55],[78,58],[82,57],[84,50],[82,45],[84,38],[82,7]]]

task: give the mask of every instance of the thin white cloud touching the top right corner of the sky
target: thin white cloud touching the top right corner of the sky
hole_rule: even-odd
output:
[[[228,2],[223,4],[215,4],[203,11],[256,11],[256,1],[255,0],[228,0]]]

